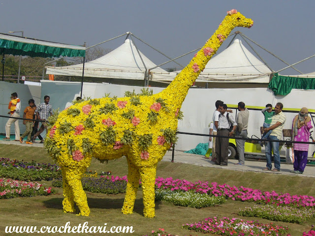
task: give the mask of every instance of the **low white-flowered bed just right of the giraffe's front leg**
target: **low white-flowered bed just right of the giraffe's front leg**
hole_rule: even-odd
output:
[[[175,206],[202,208],[224,204],[225,198],[194,192],[157,189],[156,201],[166,201]]]

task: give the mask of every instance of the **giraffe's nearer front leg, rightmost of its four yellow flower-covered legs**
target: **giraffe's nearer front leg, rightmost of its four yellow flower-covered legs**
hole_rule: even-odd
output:
[[[153,218],[155,216],[155,182],[157,166],[142,167],[140,169],[140,178],[143,191],[143,214],[145,217]]]

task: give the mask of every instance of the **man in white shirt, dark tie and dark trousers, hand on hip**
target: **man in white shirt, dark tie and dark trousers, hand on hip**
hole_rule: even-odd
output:
[[[229,115],[227,119],[227,106],[226,104],[221,104],[219,106],[220,115],[218,122],[218,136],[233,136],[235,129],[237,127],[237,123],[233,116]],[[230,124],[233,124],[232,131],[229,131]],[[217,137],[216,142],[216,165],[227,166],[228,160],[228,138]]]

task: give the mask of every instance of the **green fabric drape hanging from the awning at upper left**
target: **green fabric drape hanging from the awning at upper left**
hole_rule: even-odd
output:
[[[85,57],[85,50],[50,47],[39,44],[22,43],[0,39],[0,54],[21,55],[30,57]]]

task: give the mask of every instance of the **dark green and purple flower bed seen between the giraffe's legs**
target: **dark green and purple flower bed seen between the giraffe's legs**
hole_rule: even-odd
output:
[[[127,177],[83,177],[81,179],[83,190],[93,193],[118,194],[126,192]],[[63,179],[53,180],[54,187],[62,187]]]

